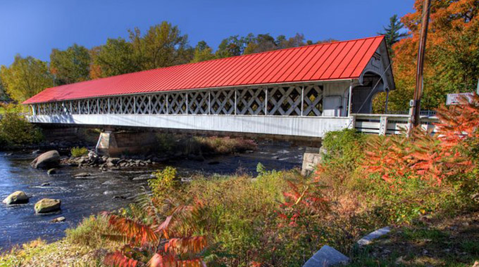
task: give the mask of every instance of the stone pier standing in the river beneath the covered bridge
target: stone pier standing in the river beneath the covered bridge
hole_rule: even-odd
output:
[[[153,132],[103,131],[97,143],[97,153],[110,157],[148,152],[156,141]]]

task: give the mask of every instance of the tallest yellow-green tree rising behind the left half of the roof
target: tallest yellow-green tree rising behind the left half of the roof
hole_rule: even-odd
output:
[[[193,58],[193,49],[188,45],[188,36],[182,35],[178,26],[163,21],[151,26],[142,36],[140,30],[129,30],[135,58],[142,70],[188,63]]]

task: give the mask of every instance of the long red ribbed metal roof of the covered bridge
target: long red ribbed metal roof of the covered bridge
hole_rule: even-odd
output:
[[[78,98],[358,78],[384,37],[220,58],[56,86],[24,104]]]

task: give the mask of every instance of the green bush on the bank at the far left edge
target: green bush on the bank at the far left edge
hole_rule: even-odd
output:
[[[30,145],[39,143],[42,139],[42,131],[27,122],[25,117],[10,110],[2,115],[0,120],[0,145],[11,147]]]

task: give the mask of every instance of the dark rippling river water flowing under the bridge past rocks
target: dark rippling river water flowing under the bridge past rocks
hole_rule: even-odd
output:
[[[301,167],[303,150],[288,143],[263,143],[253,153],[211,157],[204,162],[175,160],[168,165],[176,167],[182,178],[194,174],[228,175],[238,170],[256,174],[256,165],[261,162],[266,169],[292,169]],[[0,203],[0,252],[38,237],[47,241],[58,240],[65,235],[66,228],[74,227],[82,218],[100,211],[111,211],[125,207],[135,195],[142,193],[147,181],[133,180],[136,176],[149,174],[166,164],[150,165],[142,169],[122,169],[100,172],[97,168],[58,168],[58,173],[48,176],[45,170],[32,169],[34,159],[27,152],[13,155],[0,154],[0,198],[3,200],[16,190],[31,196],[27,204],[7,206]],[[73,175],[80,172],[92,174],[80,180]],[[42,184],[48,185],[42,186]],[[44,197],[60,199],[61,211],[37,215],[35,202]],[[61,223],[51,223],[58,216],[66,217]]]

